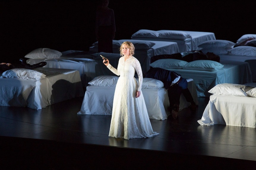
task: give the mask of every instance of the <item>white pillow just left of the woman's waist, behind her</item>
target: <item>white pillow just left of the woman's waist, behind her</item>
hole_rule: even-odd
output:
[[[118,76],[98,76],[91,80],[88,84],[101,87],[116,87],[118,78]]]

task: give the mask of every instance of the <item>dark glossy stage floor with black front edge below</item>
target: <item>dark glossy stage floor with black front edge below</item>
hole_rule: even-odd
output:
[[[150,119],[159,135],[108,137],[111,116],[77,115],[83,98],[42,110],[0,106],[1,169],[254,169],[255,128],[200,126],[208,98],[178,118]]]

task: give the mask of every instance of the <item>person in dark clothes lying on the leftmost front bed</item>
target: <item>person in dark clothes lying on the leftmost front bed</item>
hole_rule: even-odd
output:
[[[10,69],[35,69],[38,67],[44,67],[46,64],[46,62],[40,62],[30,65],[26,63],[24,59],[20,59],[18,63],[0,63],[0,72],[4,72]]]

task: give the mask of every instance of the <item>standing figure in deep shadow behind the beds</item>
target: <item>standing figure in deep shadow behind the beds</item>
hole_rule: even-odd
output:
[[[112,40],[115,38],[116,24],[113,9],[108,7],[109,0],[100,0],[96,11],[96,40],[98,52],[113,53]]]

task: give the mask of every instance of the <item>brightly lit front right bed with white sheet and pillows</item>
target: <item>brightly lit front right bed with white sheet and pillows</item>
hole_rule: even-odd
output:
[[[210,126],[224,124],[256,127],[256,83],[245,85],[224,83],[209,90],[209,103],[197,122]]]

